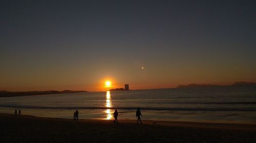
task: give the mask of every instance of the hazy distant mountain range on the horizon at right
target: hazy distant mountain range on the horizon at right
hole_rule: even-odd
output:
[[[229,86],[256,86],[256,82],[245,82],[245,81],[240,81],[236,82],[234,84],[231,84]],[[177,88],[210,88],[210,87],[224,87],[221,85],[214,85],[214,84],[188,84],[188,85],[178,85]]]

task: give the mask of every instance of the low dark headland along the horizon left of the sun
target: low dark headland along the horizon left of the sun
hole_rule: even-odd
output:
[[[30,92],[9,92],[0,91],[0,97],[13,97],[13,96],[29,96],[29,95],[47,95],[47,94],[67,94],[67,93],[83,93],[87,91],[30,91]]]

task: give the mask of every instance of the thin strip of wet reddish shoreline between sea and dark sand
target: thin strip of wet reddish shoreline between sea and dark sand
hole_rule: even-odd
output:
[[[10,113],[0,113],[1,117],[14,117]],[[37,119],[37,120],[58,120],[65,122],[73,122],[73,119],[63,119],[63,118],[48,118],[48,117],[36,117],[30,115],[21,115],[20,118],[23,119]],[[113,123],[113,119],[79,119],[78,122],[93,122],[93,123]],[[119,124],[136,124],[137,120],[118,120]],[[153,124],[156,122],[156,124]],[[256,131],[256,125],[254,124],[234,124],[234,123],[205,123],[205,122],[177,122],[177,121],[152,121],[152,120],[142,120],[143,125],[153,125],[153,126],[171,126],[171,127],[191,127],[191,128],[208,128],[208,129],[231,129],[231,130],[252,130]]]

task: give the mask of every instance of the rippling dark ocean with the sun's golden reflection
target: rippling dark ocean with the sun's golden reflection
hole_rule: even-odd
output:
[[[182,88],[88,92],[0,98],[0,112],[72,119],[143,120],[256,124],[256,87]]]

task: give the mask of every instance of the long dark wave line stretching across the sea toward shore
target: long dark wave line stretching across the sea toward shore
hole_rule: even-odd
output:
[[[123,109],[136,110],[137,107],[97,107],[97,106],[28,106],[28,105],[0,105],[0,107],[28,108],[28,109]],[[170,111],[256,111],[256,108],[193,108],[193,107],[140,107],[141,110],[170,110]]]

